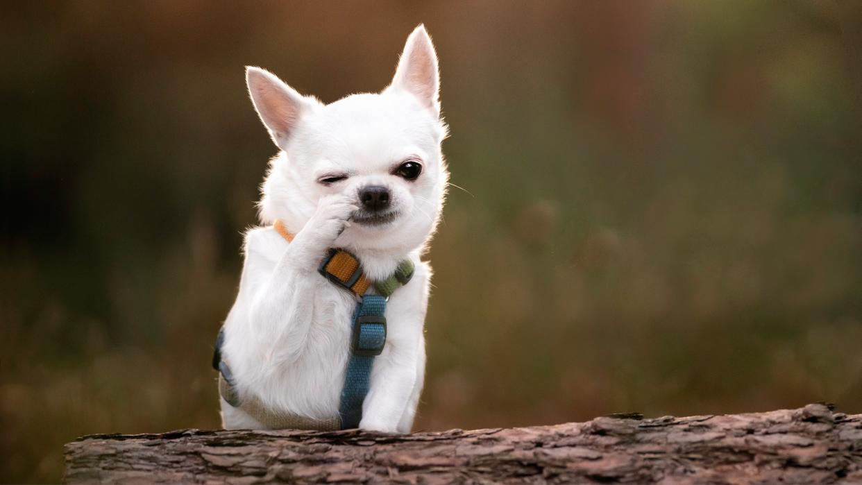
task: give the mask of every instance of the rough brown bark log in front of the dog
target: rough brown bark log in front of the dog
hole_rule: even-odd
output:
[[[862,483],[862,414],[810,404],[632,417],[409,435],[93,435],[66,445],[66,482]]]

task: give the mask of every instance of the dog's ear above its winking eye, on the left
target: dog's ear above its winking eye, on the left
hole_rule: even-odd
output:
[[[264,122],[276,146],[284,148],[290,132],[315,102],[259,67],[246,67],[246,84],[260,121]]]

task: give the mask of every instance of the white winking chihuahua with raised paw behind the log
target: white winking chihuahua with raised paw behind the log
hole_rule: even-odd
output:
[[[223,426],[409,432],[424,381],[431,277],[420,256],[448,179],[431,39],[415,28],[386,89],[331,104],[257,67],[246,77],[280,152],[262,186],[264,227],[246,233],[239,294],[216,348]],[[391,298],[376,296],[385,319],[371,320],[384,321],[384,345],[365,362],[365,376],[358,371],[365,389],[353,423],[345,422],[344,401],[351,393],[357,401],[348,387],[353,360],[362,360],[354,349],[366,339],[354,328],[363,298],[347,290],[353,281],[340,286],[322,276],[332,248],[358,259],[370,288],[365,300],[393,275],[400,283]],[[404,264],[412,278],[398,275]]]

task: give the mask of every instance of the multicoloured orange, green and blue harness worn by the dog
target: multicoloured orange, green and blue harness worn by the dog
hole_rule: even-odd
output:
[[[288,242],[293,240],[293,234],[287,231],[283,221],[276,220],[272,227]],[[337,416],[328,420],[315,420],[267,408],[255,395],[240,398],[234,375],[222,358],[224,328],[219,330],[215,339],[212,364],[213,369],[219,371],[218,387],[222,399],[270,429],[334,431],[359,426],[359,421],[362,420],[362,403],[371,385],[374,358],[380,355],[386,345],[386,302],[395,290],[410,281],[414,266],[413,261],[404,259],[390,277],[372,282],[371,278],[365,276],[359,259],[353,254],[343,249],[329,249],[317,270],[330,283],[353,294],[357,301],[351,319],[353,323],[350,357],[347,360]],[[369,290],[372,288],[374,293],[370,294]]]

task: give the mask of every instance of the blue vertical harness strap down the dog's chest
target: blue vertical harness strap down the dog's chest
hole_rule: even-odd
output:
[[[386,298],[365,295],[353,313],[350,358],[339,405],[341,429],[358,427],[362,420],[362,403],[371,386],[374,357],[386,344],[385,312]]]

